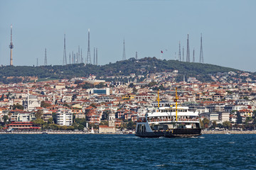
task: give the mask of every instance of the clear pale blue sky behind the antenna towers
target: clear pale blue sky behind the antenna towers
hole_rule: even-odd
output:
[[[178,42],[186,50],[189,33],[199,61],[203,33],[205,63],[256,72],[255,0],[0,0],[0,64],[9,64],[10,25],[13,24],[14,65],[63,63],[66,51],[87,55],[90,28],[91,57],[98,48],[99,64],[126,57],[174,60]]]

